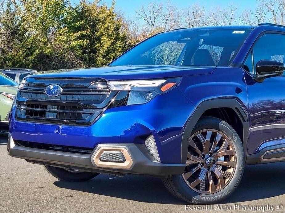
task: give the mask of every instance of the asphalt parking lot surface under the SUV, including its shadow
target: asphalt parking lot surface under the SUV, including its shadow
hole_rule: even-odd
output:
[[[190,207],[200,207],[201,211],[185,211],[187,203],[171,196],[158,178],[100,174],[88,182],[59,181],[41,165],[8,156],[6,141],[6,136],[0,137],[1,213],[253,212],[242,207],[267,205],[275,207],[273,212],[285,212],[285,207],[277,209],[285,204],[284,162],[246,166],[238,189],[219,206],[214,205],[213,211],[195,205]],[[235,204],[239,209],[234,210]],[[227,210],[222,211],[222,207]]]

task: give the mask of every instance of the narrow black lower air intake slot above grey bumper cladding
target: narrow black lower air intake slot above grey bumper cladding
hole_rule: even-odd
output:
[[[35,149],[45,149],[59,152],[70,152],[70,153],[79,153],[79,154],[91,154],[92,148],[82,148],[75,146],[62,146],[62,145],[54,145],[54,144],[44,144],[44,143],[35,143],[30,141],[20,141],[14,140],[17,146],[35,148]]]

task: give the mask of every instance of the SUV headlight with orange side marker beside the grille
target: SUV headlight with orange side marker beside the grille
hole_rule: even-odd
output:
[[[143,104],[155,96],[170,91],[180,83],[181,78],[137,80],[137,81],[109,81],[111,91],[130,91],[127,105]]]

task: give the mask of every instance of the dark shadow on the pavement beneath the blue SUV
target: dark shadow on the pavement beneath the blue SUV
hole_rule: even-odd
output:
[[[285,170],[282,168],[285,168],[285,162],[246,166],[237,190],[222,203],[239,203],[285,194]],[[54,184],[60,188],[139,202],[186,204],[170,195],[159,178],[130,175],[121,178],[100,174],[85,183],[55,181]]]

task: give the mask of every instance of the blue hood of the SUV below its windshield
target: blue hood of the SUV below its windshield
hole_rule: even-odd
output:
[[[209,74],[215,67],[205,66],[107,66],[85,69],[65,69],[38,72],[30,77],[70,78],[70,77],[98,77],[106,80],[120,79],[155,79]]]

